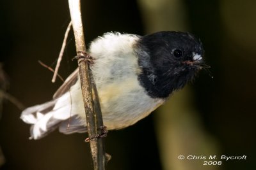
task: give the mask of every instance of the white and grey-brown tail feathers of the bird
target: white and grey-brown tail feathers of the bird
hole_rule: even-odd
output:
[[[86,132],[84,121],[77,114],[71,114],[72,104],[67,103],[69,97],[64,94],[58,99],[22,111],[20,118],[31,124],[29,139],[43,138],[56,128],[65,134]]]

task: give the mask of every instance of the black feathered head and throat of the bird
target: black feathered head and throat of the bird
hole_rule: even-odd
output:
[[[179,50],[179,56],[175,50]],[[199,71],[193,54],[202,55],[202,43],[186,32],[156,32],[141,37],[135,47],[142,73],[138,80],[152,98],[169,97]]]

